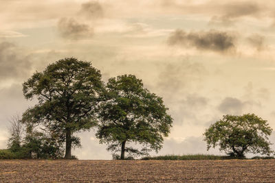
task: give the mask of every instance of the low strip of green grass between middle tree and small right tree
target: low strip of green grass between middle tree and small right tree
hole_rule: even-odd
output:
[[[233,159],[230,156],[215,156],[206,154],[187,154],[187,155],[165,155],[144,157],[142,160],[228,160]]]

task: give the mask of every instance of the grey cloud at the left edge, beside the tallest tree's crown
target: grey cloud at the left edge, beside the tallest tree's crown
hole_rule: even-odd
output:
[[[30,73],[30,56],[11,42],[0,42],[0,82],[5,79],[21,80]]]

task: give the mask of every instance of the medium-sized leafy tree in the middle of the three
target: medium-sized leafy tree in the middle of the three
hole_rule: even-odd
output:
[[[105,101],[100,105],[100,124],[96,134],[109,151],[125,151],[131,156],[158,151],[168,136],[173,119],[161,97],[150,93],[135,75],[112,77],[107,83]],[[142,149],[126,146],[142,145]]]

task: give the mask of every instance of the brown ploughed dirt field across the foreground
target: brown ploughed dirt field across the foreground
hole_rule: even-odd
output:
[[[275,182],[275,160],[0,160],[0,182]]]

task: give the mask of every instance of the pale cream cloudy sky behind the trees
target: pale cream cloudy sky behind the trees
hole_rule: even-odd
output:
[[[36,103],[22,83],[67,57],[91,62],[104,82],[136,75],[164,99],[174,122],[159,155],[221,154],[206,150],[203,132],[225,114],[254,113],[275,130],[274,8],[273,0],[0,0],[0,149],[11,117]],[[73,154],[111,159],[94,134],[79,133]]]

